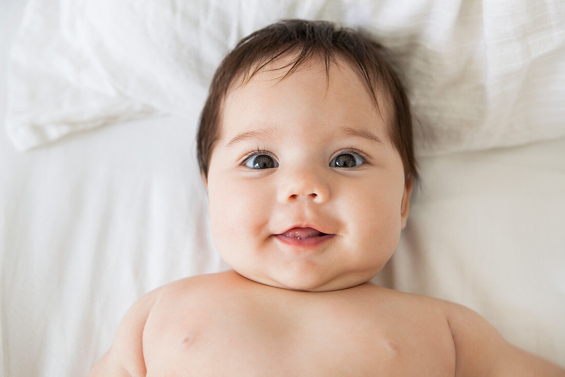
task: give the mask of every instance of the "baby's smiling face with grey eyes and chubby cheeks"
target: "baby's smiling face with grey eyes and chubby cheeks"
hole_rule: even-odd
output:
[[[362,284],[393,254],[408,215],[391,110],[381,100],[381,117],[345,62],[331,64],[329,82],[317,60],[279,81],[285,72],[263,70],[225,99],[206,183],[214,243],[239,274],[273,287]],[[295,227],[328,236],[281,235]]]

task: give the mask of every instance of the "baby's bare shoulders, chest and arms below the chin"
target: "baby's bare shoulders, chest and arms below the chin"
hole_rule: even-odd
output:
[[[563,376],[464,306],[371,283],[271,287],[233,270],[147,293],[90,376]]]

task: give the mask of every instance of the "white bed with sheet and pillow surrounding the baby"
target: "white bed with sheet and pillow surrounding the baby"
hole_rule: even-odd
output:
[[[466,305],[565,366],[565,5],[0,3],[0,375],[86,375],[142,294],[228,270],[195,133],[241,37],[363,27],[406,75],[423,184],[373,279]]]

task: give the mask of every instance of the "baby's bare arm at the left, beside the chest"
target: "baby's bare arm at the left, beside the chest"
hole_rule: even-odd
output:
[[[96,363],[88,377],[145,377],[141,340],[145,322],[158,294],[159,289],[155,289],[129,308],[110,350]]]

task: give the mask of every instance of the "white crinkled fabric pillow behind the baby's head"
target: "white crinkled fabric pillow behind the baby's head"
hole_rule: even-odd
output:
[[[565,135],[563,2],[31,0],[11,54],[11,140],[199,112],[227,51],[284,18],[363,27],[392,50],[419,155]]]

